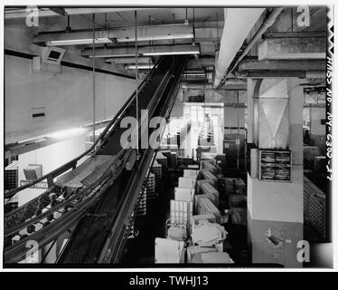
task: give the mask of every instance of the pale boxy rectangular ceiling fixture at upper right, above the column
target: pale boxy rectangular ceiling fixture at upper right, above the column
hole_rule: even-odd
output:
[[[325,37],[267,38],[258,46],[258,60],[325,59]]]

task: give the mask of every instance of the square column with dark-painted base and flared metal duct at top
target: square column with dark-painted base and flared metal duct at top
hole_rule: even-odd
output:
[[[291,182],[263,181],[248,174],[252,263],[302,267],[296,259],[297,243],[303,239],[303,90],[298,83],[296,78],[263,80],[254,116],[258,129],[249,126],[250,138],[258,133],[259,149],[292,151]]]

